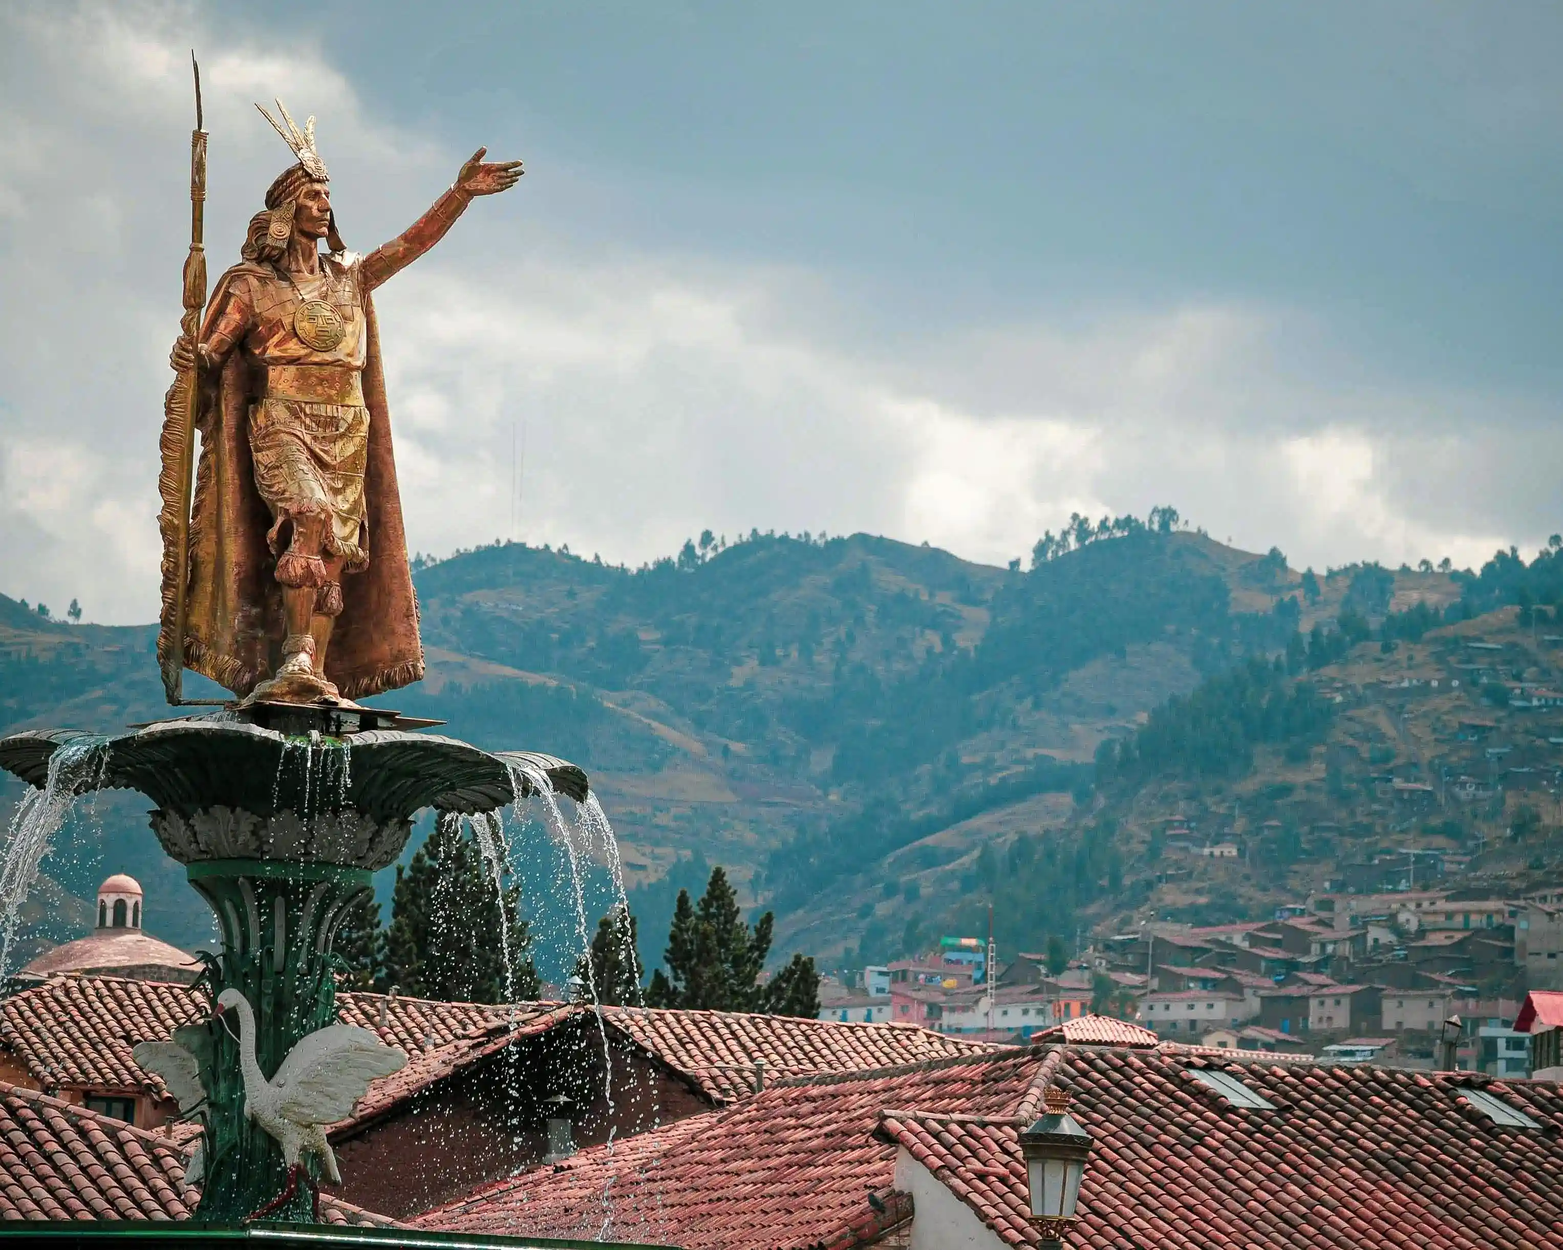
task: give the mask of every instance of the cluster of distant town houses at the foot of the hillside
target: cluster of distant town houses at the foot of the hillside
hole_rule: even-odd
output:
[[[960,958],[947,958],[958,941]],[[1025,1042],[1111,1011],[1182,1044],[1321,1053],[1382,1039],[1380,1059],[1432,1067],[1438,1036],[1458,1017],[1463,1066],[1518,1075],[1529,1064],[1529,1038],[1515,1028],[1525,992],[1563,992],[1563,888],[1319,892],[1272,920],[1150,923],[1097,938],[1057,970],[1022,952],[994,966],[993,986],[977,948],[946,939],[871,969],[883,992],[841,991],[822,1002],[821,1019]]]

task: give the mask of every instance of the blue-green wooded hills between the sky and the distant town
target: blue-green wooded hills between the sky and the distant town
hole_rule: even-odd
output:
[[[1250,772],[1219,783],[1147,770],[1093,792],[1099,748],[1136,736],[1153,709],[1244,656],[1286,655],[1299,638],[1307,652],[1316,628],[1338,647],[1336,620],[1374,628],[1415,605],[1441,620],[1472,594],[1458,575],[1430,569],[1297,573],[1279,552],[1244,553],[1177,528],[1169,511],[1150,527],[1119,519],[1083,523],[1066,541],[1047,536],[1028,572],[864,534],[750,534],[691,542],[639,570],[495,545],[419,567],[416,581],[430,677],[378,702],[444,719],[480,745],[588,767],[619,831],[653,959],[672,894],[710,862],[730,866],[753,900],[775,908],[778,953],[805,948],[827,961],[899,953],[936,925],[975,923],[988,897],[1003,936],[1030,941],[1039,925],[1068,933],[1077,920],[1146,908],[1204,914],[1300,889],[1307,872],[1332,872],[1366,844],[1314,838],[1318,853],[1288,862],[1285,877],[1213,891],[1197,872],[1155,881],[1168,869],[1150,830],[1185,816],[1204,834],[1219,827],[1222,805],[1243,839],[1261,841],[1271,819],[1310,831],[1341,823],[1330,795],[1350,767],[1339,756],[1330,770],[1339,752],[1322,739],[1300,761],[1274,762],[1261,747]],[[1505,586],[1490,589],[1502,600]],[[1466,627],[1480,622],[1450,628]],[[0,731],[114,728],[163,714],[152,633],[63,625],[0,600]],[[1438,634],[1382,659],[1404,667],[1440,645]],[[1372,723],[1379,686],[1354,666],[1377,664],[1379,645],[1308,670],[1321,689],[1354,691],[1330,703],[1332,744]],[[1288,800],[1296,811],[1272,816]],[[1005,873],[1016,855],[1030,856],[1027,870]],[[120,867],[144,878],[164,936],[206,931],[128,795],[78,819],[48,864],[77,895]],[[997,889],[1000,878],[1038,873],[1046,886],[1035,898]],[[1050,917],[1038,911],[1043,895]]]

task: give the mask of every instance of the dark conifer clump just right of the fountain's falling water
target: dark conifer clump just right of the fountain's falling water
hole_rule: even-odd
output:
[[[758,984],[775,917],[767,911],[753,928],[742,917],[738,892],[721,867],[711,869],[699,903],[678,891],[663,962],[646,992],[650,1006],[705,1011],[766,1011],[800,1014],[814,1003],[819,1012],[819,975],[814,961],[794,956],[771,984]]]

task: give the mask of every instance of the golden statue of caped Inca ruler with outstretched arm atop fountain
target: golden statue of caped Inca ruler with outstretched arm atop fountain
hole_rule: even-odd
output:
[[[177,391],[199,380],[202,436],[183,583],[178,516],[169,523],[178,483],[164,469],[158,656],[170,702],[181,664],[241,697],[286,703],[356,698],[424,675],[370,292],[439,242],[475,195],[522,173],[520,161],[485,162],[478,148],[406,233],[358,256],[336,230],[314,117],[300,131],[281,102],[275,117],[261,112],[299,162],[267,189],[242,261],[170,356]],[[200,145],[203,180],[205,134]],[[175,398],[166,466],[188,430]]]

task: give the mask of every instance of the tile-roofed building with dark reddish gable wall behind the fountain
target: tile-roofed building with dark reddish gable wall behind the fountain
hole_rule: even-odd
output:
[[[141,1128],[172,1114],[136,1042],[209,1012],[197,991],[117,977],[56,977],[0,1002],[0,1080],[84,1103]],[[333,1125],[349,1200],[403,1217],[549,1150],[547,1097],[567,1094],[577,1145],[753,1097],[819,1072],[917,1062],[991,1047],[894,1023],[721,1011],[438,1003],[338,994],[339,1017],[408,1055]],[[552,1112],[556,1114],[556,1112]]]

